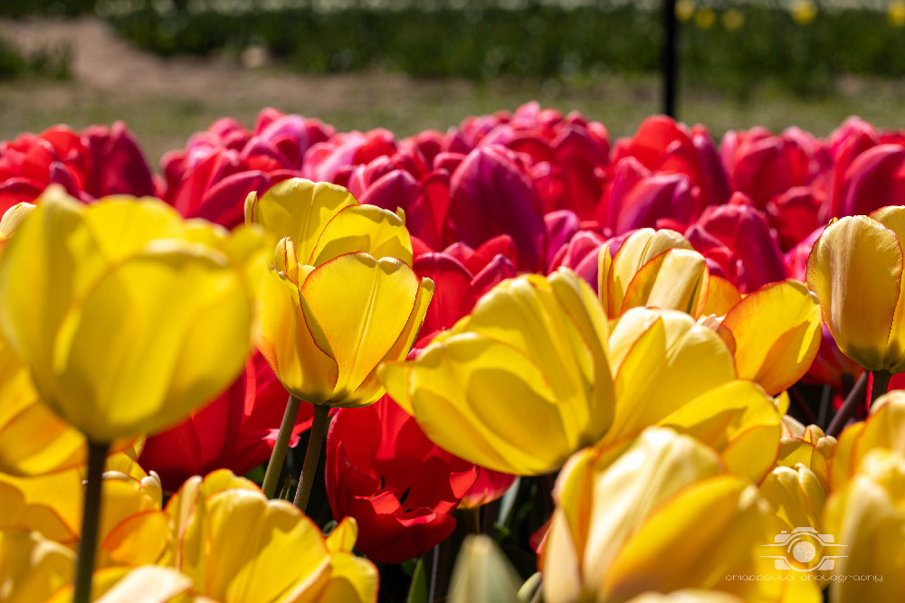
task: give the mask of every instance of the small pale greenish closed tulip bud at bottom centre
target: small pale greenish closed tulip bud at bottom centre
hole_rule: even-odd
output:
[[[450,581],[450,603],[519,603],[519,574],[488,536],[466,536]]]

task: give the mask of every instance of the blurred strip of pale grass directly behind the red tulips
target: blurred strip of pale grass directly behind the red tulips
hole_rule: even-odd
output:
[[[379,73],[362,76],[310,77],[310,88],[319,82],[340,78],[348,87],[348,99],[357,95],[357,77],[374,79]],[[251,126],[265,106],[321,118],[339,130],[386,127],[397,136],[414,134],[425,128],[445,130],[469,115],[514,109],[530,99],[543,107],[563,111],[577,109],[587,118],[599,120],[611,137],[631,135],[643,118],[658,112],[658,82],[650,76],[607,76],[592,82],[560,84],[491,80],[484,83],[462,80],[402,80],[392,95],[344,103],[317,96],[305,100],[295,95],[276,98],[250,91],[247,97],[205,99],[148,97],[85,90],[77,82],[24,80],[0,84],[0,139],[22,131],[41,131],[56,123],[81,128],[94,123],[121,119],[135,132],[157,165],[167,150],[183,146],[195,131],[205,129],[214,119],[232,116]],[[360,94],[360,93],[358,93]],[[340,99],[342,95],[340,95]],[[754,90],[747,100],[712,91],[683,90],[680,118],[686,123],[702,123],[715,137],[728,129],[766,126],[781,130],[802,127],[826,136],[844,118],[860,115],[878,127],[905,127],[905,82],[849,78],[841,80],[833,93],[801,98],[768,88]]]

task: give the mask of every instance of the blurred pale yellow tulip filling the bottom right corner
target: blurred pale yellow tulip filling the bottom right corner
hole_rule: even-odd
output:
[[[824,530],[845,546],[834,560],[834,603],[893,603],[905,592],[905,458],[874,448],[826,501]]]

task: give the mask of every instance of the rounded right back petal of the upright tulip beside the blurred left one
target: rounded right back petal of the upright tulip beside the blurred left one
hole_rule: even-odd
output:
[[[401,259],[411,266],[412,239],[395,213],[375,205],[349,205],[324,226],[310,259],[302,261],[320,266],[347,253]]]

